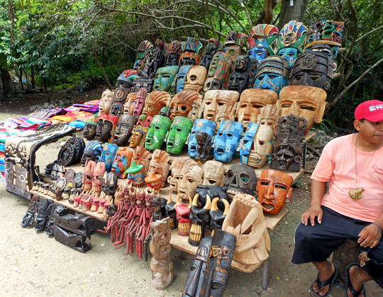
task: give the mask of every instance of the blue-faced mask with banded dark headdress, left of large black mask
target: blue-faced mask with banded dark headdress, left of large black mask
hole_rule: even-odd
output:
[[[279,91],[287,86],[289,74],[290,65],[284,57],[267,57],[257,69],[254,89],[267,89],[279,94]]]

